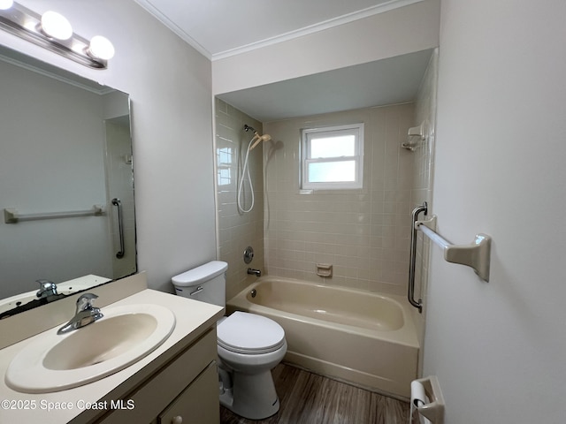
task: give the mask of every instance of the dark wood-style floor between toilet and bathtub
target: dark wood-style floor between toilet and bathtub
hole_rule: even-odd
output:
[[[246,420],[220,407],[221,424],[407,424],[409,403],[281,363],[272,371],[280,409]]]

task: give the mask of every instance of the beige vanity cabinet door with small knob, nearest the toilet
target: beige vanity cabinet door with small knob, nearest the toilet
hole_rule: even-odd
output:
[[[171,405],[159,414],[159,424],[218,424],[218,371],[210,364]]]

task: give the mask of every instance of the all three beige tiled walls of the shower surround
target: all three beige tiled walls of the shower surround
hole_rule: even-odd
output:
[[[272,141],[264,143],[263,164],[261,148],[249,157],[256,194],[249,214],[241,214],[236,206],[243,157],[252,137],[243,125],[262,132],[262,124],[216,100],[218,258],[229,264],[227,299],[256,279],[247,275],[249,267],[272,276],[406,294],[410,211],[423,201],[432,208],[437,57],[436,51],[415,103],[265,123],[264,133],[270,133]],[[431,137],[415,152],[401,148],[408,128],[423,120],[430,125]],[[300,193],[301,129],[356,122],[365,123],[364,188]],[[248,187],[246,180],[247,207]],[[249,266],[242,261],[246,246],[256,253]],[[332,264],[333,276],[317,276],[317,263]],[[419,237],[417,299],[425,297],[427,275],[428,244]],[[418,322],[424,323],[423,315]]]

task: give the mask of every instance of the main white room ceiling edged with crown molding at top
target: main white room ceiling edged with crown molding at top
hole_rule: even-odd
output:
[[[419,0],[135,0],[214,60]]]

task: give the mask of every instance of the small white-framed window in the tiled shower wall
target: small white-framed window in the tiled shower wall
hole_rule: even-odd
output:
[[[302,189],[363,186],[363,124],[302,130]]]

